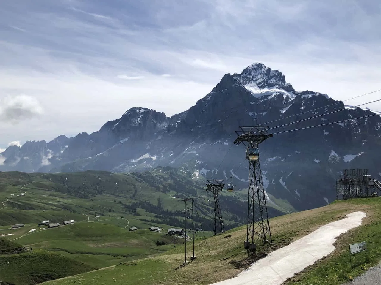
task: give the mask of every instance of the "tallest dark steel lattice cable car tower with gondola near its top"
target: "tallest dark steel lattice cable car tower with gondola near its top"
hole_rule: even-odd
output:
[[[272,244],[258,150],[261,142],[272,137],[266,131],[267,128],[269,127],[240,127],[240,131],[235,131],[238,137],[234,144],[238,145],[242,142],[245,145],[245,155],[249,161],[247,237],[244,242],[247,252],[256,251],[257,244],[261,243],[261,250],[264,253]]]

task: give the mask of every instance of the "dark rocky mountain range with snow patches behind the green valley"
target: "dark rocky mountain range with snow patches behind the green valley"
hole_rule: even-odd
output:
[[[254,63],[241,74],[225,74],[204,98],[172,117],[131,108],[90,135],[8,147],[0,154],[0,171],[120,173],[181,166],[193,179],[230,182],[233,176],[236,189],[244,189],[248,162],[244,146],[233,144],[234,131],[264,124],[274,134],[259,146],[267,203],[304,210],[335,199],[335,179],[344,168],[381,176],[381,117],[355,119],[374,114],[322,93],[296,91],[280,71]]]

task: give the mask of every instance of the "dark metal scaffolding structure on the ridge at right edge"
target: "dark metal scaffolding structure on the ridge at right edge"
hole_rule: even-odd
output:
[[[342,178],[336,179],[336,199],[377,197],[381,183],[369,175],[368,169],[344,169]]]

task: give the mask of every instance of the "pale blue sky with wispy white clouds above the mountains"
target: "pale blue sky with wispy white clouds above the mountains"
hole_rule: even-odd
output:
[[[0,152],[97,131],[132,107],[171,116],[253,62],[336,100],[381,89],[380,11],[376,0],[2,1]]]

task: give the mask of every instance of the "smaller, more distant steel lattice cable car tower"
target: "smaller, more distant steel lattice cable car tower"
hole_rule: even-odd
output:
[[[214,214],[213,214],[213,236],[218,233],[225,233],[224,222],[222,220],[221,207],[219,206],[218,193],[224,188],[224,180],[207,180],[207,192],[213,194]]]

